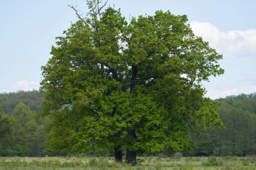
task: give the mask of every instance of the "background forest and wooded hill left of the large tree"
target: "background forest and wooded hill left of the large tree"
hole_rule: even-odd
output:
[[[0,94],[0,156],[44,155],[44,127],[40,118],[43,95],[39,91]]]

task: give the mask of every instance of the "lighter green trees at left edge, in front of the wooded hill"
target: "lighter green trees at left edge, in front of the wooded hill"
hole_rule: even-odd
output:
[[[0,156],[43,155],[44,126],[49,120],[36,117],[24,103],[18,103],[11,115],[0,110]]]

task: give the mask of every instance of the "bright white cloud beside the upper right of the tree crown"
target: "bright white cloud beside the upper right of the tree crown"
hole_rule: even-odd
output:
[[[201,36],[224,57],[256,56],[256,30],[221,32],[207,22],[191,22],[190,26],[196,36]]]

